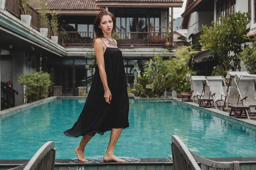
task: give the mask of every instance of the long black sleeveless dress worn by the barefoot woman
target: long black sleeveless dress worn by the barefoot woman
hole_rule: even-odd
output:
[[[119,48],[107,47],[104,53],[108,87],[112,94],[110,104],[104,98],[104,88],[96,66],[92,86],[78,120],[64,132],[69,137],[103,135],[112,128],[129,127],[129,99],[127,94],[124,60]]]

